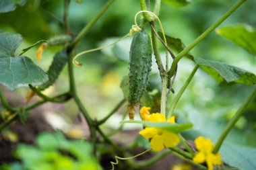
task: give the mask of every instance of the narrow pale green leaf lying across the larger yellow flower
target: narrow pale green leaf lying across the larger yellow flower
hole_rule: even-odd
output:
[[[125,120],[121,123],[131,123],[131,124],[143,124],[146,127],[162,128],[175,133],[180,133],[189,128],[192,128],[192,124],[174,124],[169,122],[148,122],[141,120]]]

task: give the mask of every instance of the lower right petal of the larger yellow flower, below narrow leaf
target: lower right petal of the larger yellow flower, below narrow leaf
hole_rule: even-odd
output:
[[[181,140],[177,134],[174,134],[173,132],[169,132],[167,130],[163,130],[161,136],[162,140],[164,141],[164,145],[168,148],[176,146]]]

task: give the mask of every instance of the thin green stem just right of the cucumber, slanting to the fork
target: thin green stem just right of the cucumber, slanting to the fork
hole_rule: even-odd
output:
[[[154,28],[154,30],[156,30],[156,22],[152,22],[152,26]],[[151,36],[152,36],[152,46],[153,46],[153,50],[154,50],[154,54],[156,56],[156,63],[158,64],[158,69],[160,71],[160,76],[163,77],[165,71],[164,71],[164,67],[162,65],[162,60],[160,57],[160,53],[158,51],[158,42],[157,42],[157,38],[156,38],[156,34],[154,34],[154,30],[152,29],[151,31]]]

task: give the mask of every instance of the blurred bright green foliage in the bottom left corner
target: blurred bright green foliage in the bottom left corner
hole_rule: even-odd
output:
[[[15,157],[22,163],[3,165],[3,169],[99,169],[88,142],[67,140],[61,132],[41,133],[36,138],[36,146],[20,144]]]

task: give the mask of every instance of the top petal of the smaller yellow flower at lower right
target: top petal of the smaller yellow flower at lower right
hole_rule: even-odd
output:
[[[214,144],[211,142],[210,138],[203,138],[203,136],[199,136],[195,139],[195,146],[198,151],[203,151],[205,153],[212,153],[214,149]]]

